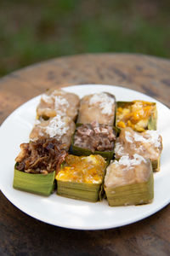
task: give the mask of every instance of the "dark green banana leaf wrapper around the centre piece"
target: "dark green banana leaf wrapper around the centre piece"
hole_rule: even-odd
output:
[[[77,127],[78,126],[81,126],[82,124],[77,124]],[[117,130],[114,129],[114,131],[116,131],[117,133]],[[75,131],[76,132],[76,131]],[[74,137],[75,137],[75,133],[72,135],[71,137],[71,148],[70,148],[70,151],[71,151],[71,154],[75,154],[75,155],[90,155],[90,154],[100,154],[101,156],[103,156],[105,158],[105,160],[112,160],[113,159],[113,156],[114,156],[114,148],[113,150],[111,151],[97,151],[95,150],[94,152],[91,151],[90,149],[88,148],[80,148],[78,146],[75,146],[74,145]]]

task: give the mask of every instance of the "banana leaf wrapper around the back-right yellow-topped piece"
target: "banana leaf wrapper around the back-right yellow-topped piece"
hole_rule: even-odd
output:
[[[156,109],[156,102],[151,102],[154,105],[154,111],[151,114],[149,120],[148,120],[148,125],[144,130],[156,130],[157,128],[157,109]],[[133,102],[116,102],[116,108],[124,106],[124,104],[133,104]],[[117,114],[115,118],[115,126],[117,129],[117,132],[120,133],[122,128],[117,125]],[[136,130],[135,130],[136,131]]]

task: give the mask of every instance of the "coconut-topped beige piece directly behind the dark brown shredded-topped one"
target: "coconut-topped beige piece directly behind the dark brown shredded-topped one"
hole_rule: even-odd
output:
[[[37,124],[33,127],[30,139],[37,141],[42,137],[54,137],[60,143],[65,144],[65,149],[68,150],[71,146],[71,136],[76,128],[75,123],[70,117],[56,115],[48,120],[37,120]]]

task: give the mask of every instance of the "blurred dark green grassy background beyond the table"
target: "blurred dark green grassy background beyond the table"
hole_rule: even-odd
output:
[[[170,58],[169,10],[169,0],[0,0],[0,76],[61,55]]]

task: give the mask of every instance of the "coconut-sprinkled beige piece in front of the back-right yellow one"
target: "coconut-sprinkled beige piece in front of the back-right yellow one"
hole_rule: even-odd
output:
[[[130,127],[124,128],[120,136],[116,138],[116,159],[125,154],[140,154],[144,158],[151,160],[153,171],[159,171],[162,150],[161,141],[161,135],[157,131],[137,132]]]

